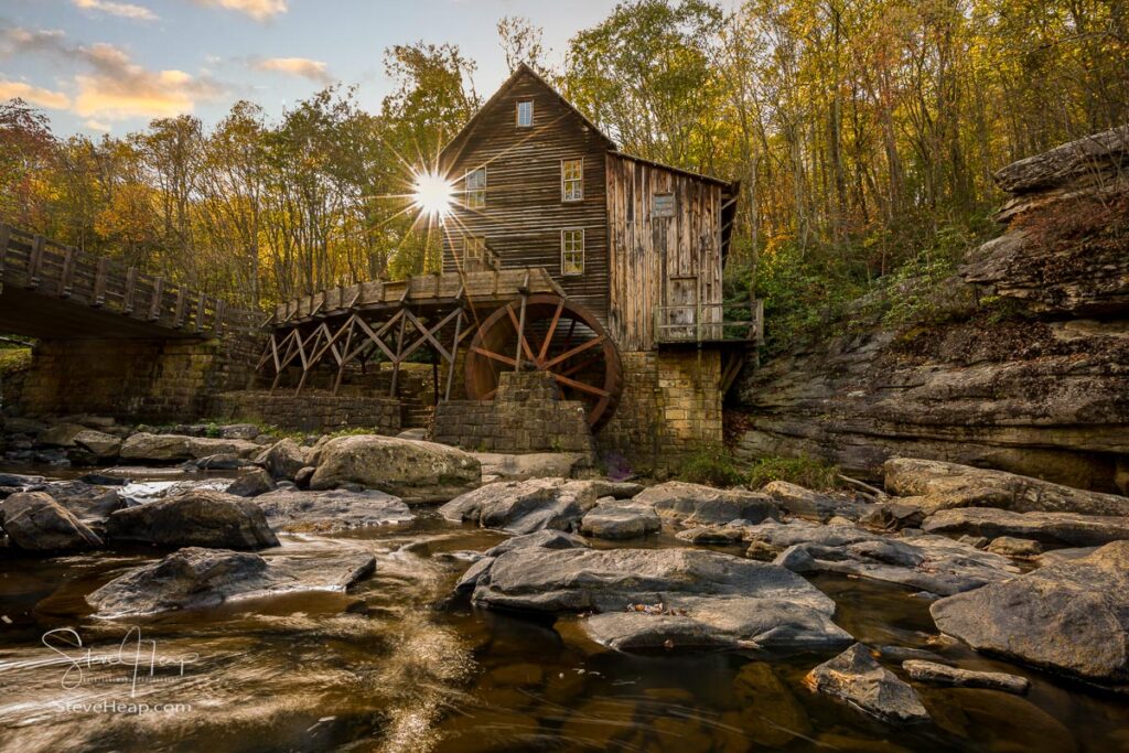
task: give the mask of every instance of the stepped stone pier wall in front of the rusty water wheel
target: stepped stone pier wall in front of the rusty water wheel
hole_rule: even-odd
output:
[[[436,408],[432,439],[492,453],[590,453],[584,403],[563,401],[550,375],[504,373],[493,401],[452,400]]]

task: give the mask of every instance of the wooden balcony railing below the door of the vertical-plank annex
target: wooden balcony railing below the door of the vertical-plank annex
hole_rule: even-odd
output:
[[[737,312],[749,318],[733,318]],[[656,306],[655,342],[746,342],[761,345],[764,343],[764,301]]]

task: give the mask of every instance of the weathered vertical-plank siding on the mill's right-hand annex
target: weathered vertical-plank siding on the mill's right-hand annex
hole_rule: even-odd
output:
[[[620,350],[653,350],[655,307],[675,303],[679,288],[721,303],[721,186],[616,155],[606,161],[607,326]],[[651,217],[656,193],[674,194],[673,217]]]

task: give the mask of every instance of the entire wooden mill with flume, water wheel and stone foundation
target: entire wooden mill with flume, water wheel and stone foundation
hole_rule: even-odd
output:
[[[619,151],[526,65],[438,170],[453,198],[441,273],[279,307],[279,376],[298,356],[305,371],[332,359],[340,383],[353,352],[399,368],[427,347],[448,402],[539,370],[586,404],[604,449],[658,459],[721,440],[721,397],[761,332],[756,305],[723,304],[737,183]]]

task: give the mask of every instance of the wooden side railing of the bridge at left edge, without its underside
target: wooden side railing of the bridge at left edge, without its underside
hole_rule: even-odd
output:
[[[250,332],[261,324],[256,314],[215,296],[0,224],[0,291],[5,286],[201,336]]]

